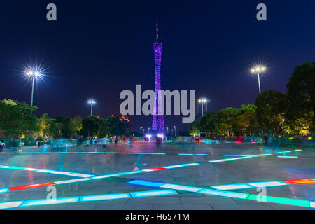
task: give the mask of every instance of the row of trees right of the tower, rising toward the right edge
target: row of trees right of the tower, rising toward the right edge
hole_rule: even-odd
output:
[[[267,90],[258,95],[255,105],[240,109],[228,107],[207,113],[190,125],[190,133],[201,129],[209,135],[253,135],[264,130],[269,135],[305,137],[315,133],[315,62],[297,66],[287,93]],[[267,132],[267,133],[266,133]]]

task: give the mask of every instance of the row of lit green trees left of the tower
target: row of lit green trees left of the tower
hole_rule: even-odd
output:
[[[12,99],[0,101],[0,131],[10,139],[27,137],[47,138],[77,138],[83,137],[105,137],[126,134],[126,126],[113,116],[99,118],[99,116],[88,116],[81,118],[67,118],[57,116],[49,118],[44,113],[40,118],[34,115],[38,109],[23,102]]]

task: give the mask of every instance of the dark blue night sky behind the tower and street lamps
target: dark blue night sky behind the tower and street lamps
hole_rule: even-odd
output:
[[[57,21],[46,20],[48,3]],[[267,21],[256,20],[258,3]],[[36,83],[37,116],[90,113],[120,116],[122,90],[154,90],[155,21],[160,22],[162,90],[196,90],[208,111],[253,104],[258,80],[249,69],[267,65],[263,90],[286,92],[295,66],[314,61],[315,1],[1,1],[0,99],[31,100],[23,64],[46,68]],[[152,116],[130,116],[132,130],[151,127]],[[187,125],[181,116],[166,127]]]

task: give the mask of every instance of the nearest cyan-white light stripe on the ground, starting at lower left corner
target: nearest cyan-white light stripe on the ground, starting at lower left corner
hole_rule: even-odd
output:
[[[160,195],[176,195],[175,190],[148,190],[148,191],[136,191],[130,193],[117,193],[107,195],[85,195],[74,197],[59,197],[54,199],[39,199],[39,200],[26,200],[26,201],[14,201],[14,202],[2,202],[0,203],[0,209],[15,209],[18,207],[29,206],[41,206],[48,204],[65,204],[76,202],[93,202],[100,200],[117,200],[130,197],[154,197]]]

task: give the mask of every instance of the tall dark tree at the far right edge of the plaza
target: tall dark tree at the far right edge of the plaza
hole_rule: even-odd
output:
[[[308,126],[315,132],[315,62],[306,62],[296,66],[289,83],[286,123],[292,130],[299,126]]]

